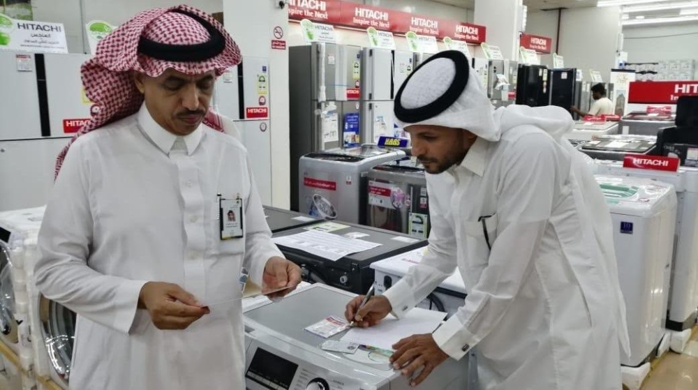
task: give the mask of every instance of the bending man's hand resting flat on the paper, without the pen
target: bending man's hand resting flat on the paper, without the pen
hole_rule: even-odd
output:
[[[448,359],[448,355],[436,345],[431,334],[403,338],[393,345],[393,349],[395,353],[390,358],[390,363],[394,369],[402,369],[402,375],[410,379],[413,387],[422,383],[434,368]],[[422,371],[415,377],[419,368]]]

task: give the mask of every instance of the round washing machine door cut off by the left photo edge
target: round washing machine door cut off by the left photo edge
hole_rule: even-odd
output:
[[[15,292],[10,276],[10,250],[0,241],[0,338],[15,352],[19,348],[15,321]]]

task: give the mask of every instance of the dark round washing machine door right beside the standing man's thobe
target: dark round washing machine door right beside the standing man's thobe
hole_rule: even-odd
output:
[[[73,357],[76,315],[43,296],[40,297],[39,310],[41,333],[49,363],[67,385],[70,377],[70,359]]]

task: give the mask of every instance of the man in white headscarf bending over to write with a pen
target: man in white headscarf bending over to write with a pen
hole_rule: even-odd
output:
[[[482,390],[618,390],[628,351],[610,213],[559,107],[496,111],[460,52],[417,68],[395,116],[424,163],[432,230],[424,260],[346,317],[403,317],[457,268],[468,295],[432,334],[394,345],[419,384],[475,348]]]

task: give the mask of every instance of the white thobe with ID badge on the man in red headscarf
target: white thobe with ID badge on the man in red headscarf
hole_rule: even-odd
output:
[[[218,199],[244,207],[244,238],[221,241]],[[186,330],[156,329],[138,296],[176,283],[202,303],[261,284],[271,241],[246,149],[201,125],[186,137],[143,106],[70,147],[39,236],[36,283],[77,313],[71,389],[244,389],[240,301]]]

